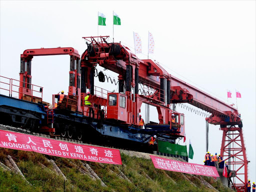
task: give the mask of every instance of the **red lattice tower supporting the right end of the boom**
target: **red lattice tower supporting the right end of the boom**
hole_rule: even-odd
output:
[[[244,144],[242,128],[230,125],[223,130],[220,155],[229,169],[235,170],[233,183],[236,191],[245,191],[248,179],[248,160]]]

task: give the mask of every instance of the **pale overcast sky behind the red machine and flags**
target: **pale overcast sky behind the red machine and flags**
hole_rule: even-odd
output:
[[[139,58],[147,57],[147,34],[153,34],[155,49],[149,56],[172,75],[226,100],[226,89],[235,89],[243,120],[249,163],[249,179],[256,181],[255,165],[255,1],[0,1],[0,75],[19,79],[20,53],[28,48],[72,46],[86,49],[82,36],[97,35],[97,11],[106,16],[100,35],[112,38],[112,11],[121,19],[114,26],[114,39],[131,49],[133,31],[142,40]],[[32,83],[41,85],[43,100],[67,92],[69,56],[39,56],[32,60]],[[111,71],[104,71],[116,76]],[[116,76],[117,77],[117,76]],[[116,89],[114,85],[97,86]],[[193,107],[194,108],[194,107]],[[205,154],[205,118],[177,107],[185,114],[187,144],[201,164]],[[143,111],[141,112],[143,116]],[[150,109],[150,120],[156,112]],[[209,151],[219,153],[222,132],[209,127]],[[183,144],[183,142],[179,142]]]

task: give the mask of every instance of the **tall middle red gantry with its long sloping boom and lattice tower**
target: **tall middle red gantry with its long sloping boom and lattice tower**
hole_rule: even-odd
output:
[[[234,186],[237,191],[244,191],[247,182],[248,161],[242,135],[242,122],[238,110],[185,81],[172,76],[157,62],[150,59],[138,59],[128,47],[121,43],[108,43],[106,41],[107,37],[108,36],[83,37],[89,43],[87,43],[87,50],[85,50],[81,56],[81,73],[85,74],[81,76],[82,96],[85,95],[86,88],[89,88],[91,94],[93,94],[93,88],[91,87],[93,87],[94,80],[92,76],[95,66],[99,64],[119,74],[119,92],[123,92],[124,90],[123,87],[120,87],[120,84],[123,84],[120,82],[125,81],[125,94],[127,97],[131,98],[130,104],[133,106],[129,112],[135,117],[140,107],[136,99],[139,98],[136,88],[137,81],[142,84],[146,82],[147,84],[163,89],[166,97],[162,99],[162,104],[167,107],[169,107],[170,103],[188,102],[191,105],[210,112],[211,115],[206,118],[206,121],[215,125],[219,124],[220,130],[223,131],[220,155],[223,157],[223,160],[232,158],[232,161],[229,160],[227,162],[229,167],[230,165],[233,165],[233,167],[240,165],[235,169],[237,179],[234,182]],[[98,41],[96,38],[100,40]],[[131,93],[132,89],[134,89],[133,92],[135,92],[135,94]],[[162,117],[165,121],[168,120],[166,116]],[[229,137],[230,134],[237,134],[237,136],[231,139],[231,137]],[[229,142],[229,144],[226,144],[226,141]],[[236,143],[239,147],[230,148],[230,142]],[[242,167],[244,171],[240,173],[239,171],[242,170]],[[243,175],[243,178],[240,175]]]

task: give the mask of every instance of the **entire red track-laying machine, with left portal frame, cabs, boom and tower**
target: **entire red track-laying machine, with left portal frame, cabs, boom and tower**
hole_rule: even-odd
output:
[[[84,131],[87,131],[84,127],[87,124],[100,134],[110,137],[147,143],[149,137],[156,134],[157,139],[174,142],[176,138],[184,136],[184,114],[173,110],[171,106],[175,103],[189,103],[211,113],[206,118],[208,123],[220,125],[219,129],[223,131],[220,155],[227,161],[229,168],[236,167],[234,186],[237,191],[244,191],[248,161],[242,122],[236,108],[172,76],[159,63],[137,58],[127,46],[108,42],[108,36],[82,38],[86,40],[87,49],[81,57],[72,47],[27,49],[21,54],[17,91],[19,100],[37,103],[41,103],[42,98],[32,94],[33,56],[70,55],[68,94],[62,103],[58,102],[58,94],[53,95],[53,109],[45,110],[44,119],[47,121],[43,124],[40,119],[39,127],[48,131],[54,129],[62,136],[76,135],[80,139]],[[94,85],[95,76],[101,82],[108,81],[108,77],[102,71],[98,72],[96,66],[118,74],[118,92],[109,92]],[[87,91],[90,92],[87,101],[91,105],[84,104]],[[11,96],[12,90],[9,92]],[[42,92],[42,87],[39,92]],[[144,129],[139,127],[142,103],[156,107],[159,123],[149,122]],[[171,114],[175,115],[175,122],[171,121]],[[35,118],[33,123],[36,122]],[[234,143],[236,147],[233,147]]]

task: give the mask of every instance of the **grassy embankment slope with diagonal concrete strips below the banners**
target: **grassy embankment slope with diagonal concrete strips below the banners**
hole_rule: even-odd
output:
[[[137,158],[122,153],[121,158],[124,165],[104,164],[104,167],[102,167],[99,163],[86,162],[107,187],[101,186],[99,180],[92,180],[86,174],[82,174],[69,162],[71,160],[79,166],[79,160],[0,148],[1,162],[5,163],[4,159],[7,154],[13,157],[31,185],[21,179],[21,176],[7,171],[4,172],[0,168],[0,191],[63,191],[63,178],[53,171],[51,163],[46,158],[53,159],[66,176],[65,191],[214,191],[201,184],[196,178],[190,178],[196,185],[194,186],[188,180],[185,180],[179,172],[155,169],[150,159]],[[45,165],[46,168],[43,168],[38,162]],[[115,174],[119,173],[117,167],[131,182]],[[115,173],[109,171],[109,169]],[[204,177],[204,179],[219,191],[231,191],[224,187],[220,181],[210,177]]]

